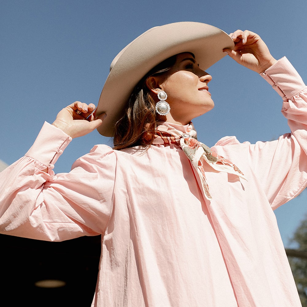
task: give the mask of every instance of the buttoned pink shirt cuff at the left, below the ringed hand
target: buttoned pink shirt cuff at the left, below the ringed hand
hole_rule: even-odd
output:
[[[64,131],[45,122],[25,156],[40,161],[46,167],[53,169],[54,163],[71,141],[72,138]]]

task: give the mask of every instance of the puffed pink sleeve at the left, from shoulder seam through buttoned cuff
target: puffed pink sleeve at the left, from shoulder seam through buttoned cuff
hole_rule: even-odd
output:
[[[25,157],[0,173],[1,233],[62,241],[104,232],[112,210],[114,151],[97,145],[69,173],[55,175],[53,165],[70,141],[45,123]]]

